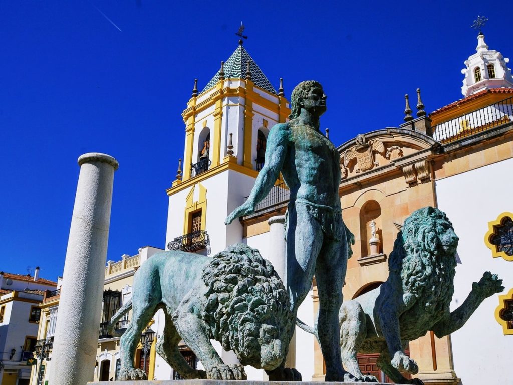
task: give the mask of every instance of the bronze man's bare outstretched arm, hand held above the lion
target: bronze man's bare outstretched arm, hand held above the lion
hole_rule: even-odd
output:
[[[225,220],[226,224],[230,224],[235,218],[254,213],[255,206],[268,194],[280,176],[287,155],[288,136],[287,124],[277,124],[271,128],[267,138],[264,167],[260,170],[248,199],[232,211]]]

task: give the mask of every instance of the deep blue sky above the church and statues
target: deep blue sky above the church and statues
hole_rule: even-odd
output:
[[[164,247],[181,112],[194,78],[202,89],[237,47],[241,20],[246,49],[275,88],[284,78],[287,98],[302,80],[324,85],[321,127],[340,145],[401,124],[417,87],[428,112],[460,99],[478,14],[489,17],[490,48],[513,56],[505,11],[477,1],[0,0],[0,269],[62,275],[85,152],[120,163],[108,259]]]

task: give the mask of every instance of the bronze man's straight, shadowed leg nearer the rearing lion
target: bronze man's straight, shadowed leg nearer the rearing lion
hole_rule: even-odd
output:
[[[326,363],[325,381],[354,380],[342,367],[339,311],[347,267],[347,243],[326,240],[315,266],[319,313],[314,330]]]

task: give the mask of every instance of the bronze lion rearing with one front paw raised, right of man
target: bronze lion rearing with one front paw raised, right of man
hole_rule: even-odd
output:
[[[380,353],[377,365],[396,383],[422,384],[401,372],[417,374],[417,363],[406,356],[403,344],[428,331],[443,337],[460,329],[483,300],[504,290],[497,275],[484,273],[463,304],[453,312],[458,236],[443,211],[424,207],[406,220],[388,261],[389,277],[380,287],[340,308],[342,362],[360,381],[357,353]]]

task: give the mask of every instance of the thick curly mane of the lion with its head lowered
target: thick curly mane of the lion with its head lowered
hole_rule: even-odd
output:
[[[284,337],[293,326],[289,296],[272,264],[257,249],[234,244],[216,254],[203,268],[208,287],[201,313],[212,339],[226,351],[241,354],[241,363],[260,368],[260,329],[274,326]]]

